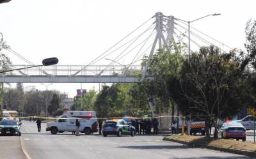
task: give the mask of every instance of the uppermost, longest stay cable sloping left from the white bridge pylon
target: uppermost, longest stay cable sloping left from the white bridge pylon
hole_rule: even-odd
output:
[[[120,42],[122,42],[123,40],[125,40],[125,38],[127,38],[128,36],[130,36],[132,33],[134,33],[135,31],[137,31],[138,29],[140,29],[142,26],[144,26],[145,24],[147,24],[147,22],[149,22],[152,18],[148,19],[147,21],[143,22],[143,24],[141,24],[140,26],[136,27],[136,29],[134,29],[131,33],[127,34],[127,36],[125,36],[124,38],[122,38],[120,41],[118,41],[117,43],[115,43],[112,47],[110,47],[108,50],[106,50],[105,52],[103,52],[102,54],[100,54],[98,57],[96,57],[95,59],[93,59],[93,61],[91,61],[90,63],[86,64],[86,66],[90,66],[91,64],[95,63],[95,61],[97,61],[97,59],[99,59],[100,57],[102,57],[104,54],[106,54],[109,50],[113,49],[114,47],[116,47],[116,45],[118,45]],[[103,57],[104,58],[104,57]],[[86,66],[84,68],[86,68]],[[82,68],[82,70],[84,69]],[[81,70],[77,71],[76,73],[74,73],[75,76],[77,75],[79,72],[81,72]]]

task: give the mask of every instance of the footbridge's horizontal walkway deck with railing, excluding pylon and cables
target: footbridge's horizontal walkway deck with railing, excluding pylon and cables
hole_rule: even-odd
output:
[[[15,65],[13,69],[31,65]],[[53,65],[0,73],[0,82],[8,83],[130,83],[141,82],[140,65]],[[150,75],[146,79],[152,79]]]

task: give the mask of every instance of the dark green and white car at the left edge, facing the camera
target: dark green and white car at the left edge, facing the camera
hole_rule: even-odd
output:
[[[0,122],[0,135],[20,136],[20,125],[15,119],[4,119]]]

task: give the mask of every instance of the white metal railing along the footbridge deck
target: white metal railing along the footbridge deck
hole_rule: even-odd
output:
[[[32,65],[14,65],[12,69],[17,68],[26,68]],[[142,70],[140,65],[131,65],[129,68],[127,66],[122,65],[52,65],[52,66],[38,66],[36,68],[26,68],[24,70],[15,70],[12,72],[12,75],[22,75],[22,76],[41,76],[41,75],[54,75],[54,76],[72,76],[75,73],[76,76],[100,76],[109,75],[109,76],[137,76],[140,75]],[[105,69],[106,68],[106,69]],[[104,70],[105,69],[105,70]],[[102,70],[104,70],[102,72]],[[0,73],[1,75],[1,73]],[[3,75],[3,73],[2,73]]]

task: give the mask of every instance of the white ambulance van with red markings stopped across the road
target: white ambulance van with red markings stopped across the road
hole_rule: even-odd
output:
[[[55,121],[47,122],[46,131],[52,134],[58,132],[76,132],[76,119],[80,122],[79,131],[89,135],[98,132],[95,111],[67,111]]]

